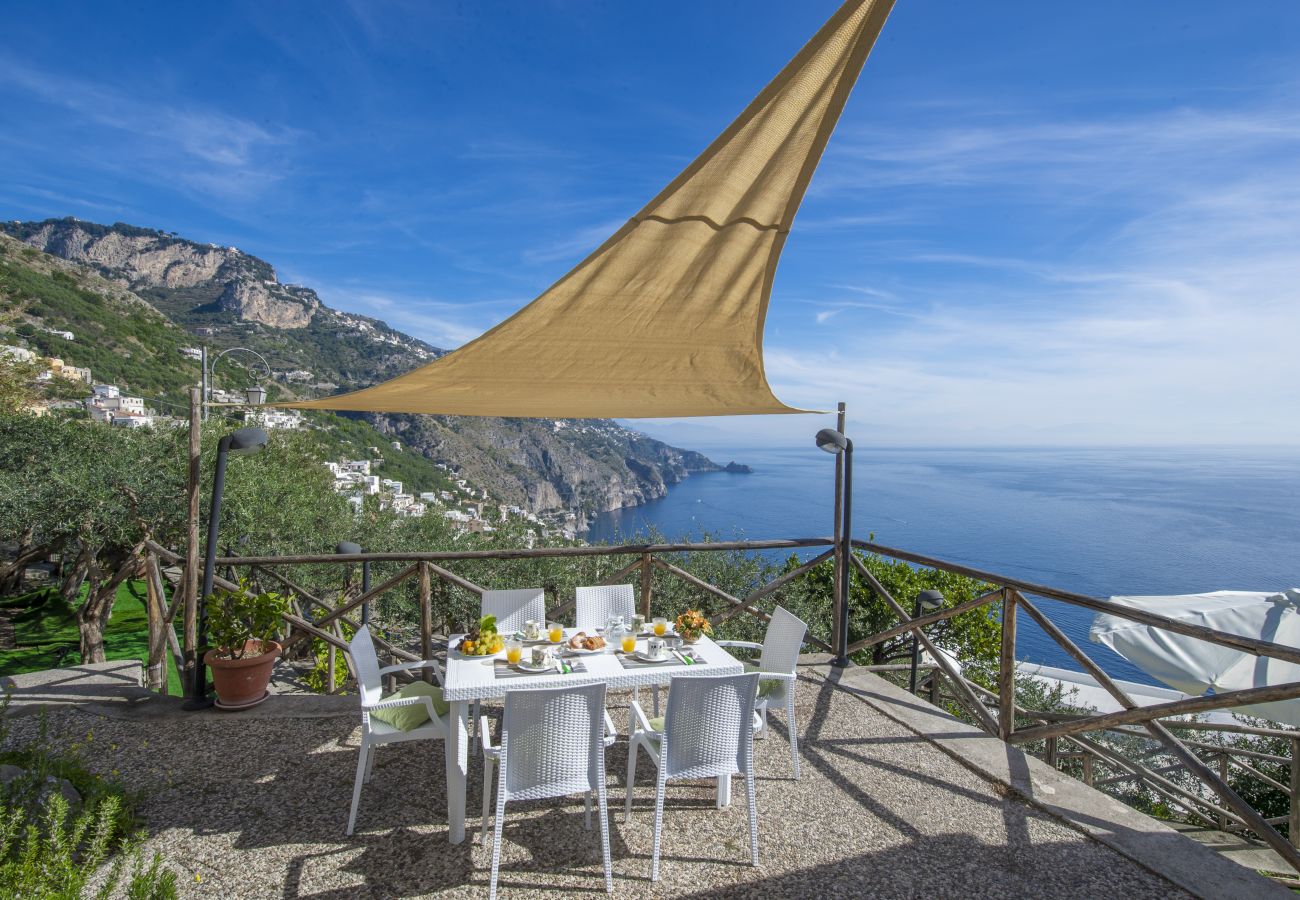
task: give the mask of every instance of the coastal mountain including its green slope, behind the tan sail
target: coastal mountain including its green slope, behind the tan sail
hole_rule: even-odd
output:
[[[377,319],[333,310],[309,287],[281,284],[269,263],[235,247],[75,218],[5,222],[0,235],[13,239],[0,237],[0,248],[17,248],[14,241],[26,245],[0,258],[0,274],[9,273],[8,282],[0,280],[0,294],[26,306],[27,319],[42,324],[32,346],[51,355],[57,351],[69,364],[90,365],[96,378],[118,377],[124,386],[166,394],[170,402],[182,402],[198,376],[198,364],[179,355],[182,346],[205,343],[212,354],[238,346],[261,354],[276,378],[272,399],[364,388],[443,352]],[[51,299],[31,285],[26,290],[17,285],[39,277],[66,280],[68,297]],[[113,303],[126,303],[131,312],[125,319],[105,316],[103,303],[82,294],[117,298]],[[129,321],[130,333],[108,336],[96,347],[81,339],[57,343],[47,330],[107,334],[117,320]],[[218,385],[239,388],[251,377],[263,378],[260,367],[240,368],[246,355],[226,359],[216,367]],[[328,414],[311,419],[341,433],[351,428]],[[408,471],[413,471],[411,458],[419,457],[428,460],[430,480],[441,483],[442,470],[433,466],[441,463],[486,488],[493,499],[533,512],[590,515],[636,506],[666,496],[670,485],[692,473],[722,468],[702,454],[610,420],[369,414],[348,419],[400,441]],[[413,484],[434,486],[420,481]]]

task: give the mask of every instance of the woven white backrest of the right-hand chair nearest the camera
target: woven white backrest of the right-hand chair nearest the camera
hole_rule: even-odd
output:
[[[663,776],[749,771],[757,693],[758,672],[672,679],[663,721]]]

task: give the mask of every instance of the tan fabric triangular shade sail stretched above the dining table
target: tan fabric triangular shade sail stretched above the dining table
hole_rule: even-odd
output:
[[[577,417],[805,412],[763,372],[776,261],[893,0],[849,0],[654,200],[482,337],[317,410]]]

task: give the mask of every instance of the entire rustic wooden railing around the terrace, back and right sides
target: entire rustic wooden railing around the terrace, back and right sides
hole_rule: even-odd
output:
[[[1248,726],[1219,726],[1204,722],[1175,719],[1173,717],[1202,713],[1209,710],[1232,709],[1248,704],[1260,704],[1278,700],[1294,700],[1300,697],[1300,683],[1273,685],[1266,688],[1253,688],[1247,691],[1234,691],[1216,695],[1213,697],[1195,697],[1179,700],[1154,706],[1138,706],[1136,702],[1115,682],[1084,653],[1069,636],[1066,636],[1030,597],[1043,597],[1052,601],[1070,603],[1091,611],[1108,613],[1119,618],[1130,619],[1148,626],[1165,628],[1167,631],[1188,635],[1221,646],[1243,650],[1253,655],[1283,659],[1300,663],[1300,649],[1261,641],[1238,635],[1228,635],[1210,628],[1188,624],[1169,619],[1166,616],[1123,607],[1109,603],[1096,597],[1078,594],[1046,585],[1035,584],[1023,579],[1009,577],[993,572],[985,572],[968,566],[952,563],[944,559],[924,557],[920,554],[879,545],[870,541],[853,541],[853,548],[880,557],[904,561],[913,566],[944,570],[958,575],[978,579],[992,585],[992,590],[979,597],[936,613],[911,616],[900,598],[890,596],[889,590],[878,580],[871,570],[862,562],[858,554],[850,554],[850,571],[861,583],[878,597],[885,606],[893,610],[898,624],[885,628],[875,635],[853,641],[846,652],[861,654],[884,641],[911,633],[919,644],[930,653],[932,662],[923,666],[931,670],[930,676],[922,683],[922,688],[928,692],[932,702],[940,704],[952,701],[967,718],[980,726],[991,735],[996,735],[1010,744],[1034,745],[1054,766],[1069,766],[1078,769],[1082,778],[1088,784],[1098,788],[1114,788],[1122,783],[1136,783],[1150,789],[1164,801],[1196,822],[1210,827],[1225,830],[1244,830],[1258,835],[1274,851],[1278,852],[1292,867],[1300,871],[1300,853],[1291,841],[1300,843],[1300,731],[1284,731],[1270,728],[1252,728]],[[681,566],[664,559],[667,554],[698,554],[718,551],[771,551],[771,550],[818,550],[806,562],[796,566],[790,571],[749,590],[745,596],[736,596],[705,579],[686,571]],[[412,661],[417,658],[432,658],[436,650],[436,639],[445,637],[436,632],[436,615],[433,609],[432,585],[442,583],[452,589],[468,592],[471,596],[481,596],[484,588],[455,571],[458,563],[467,562],[508,562],[521,559],[542,558],[578,558],[601,557],[621,562],[616,568],[602,574],[599,584],[619,584],[632,580],[638,587],[640,607],[645,615],[650,615],[654,602],[654,572],[659,571],[675,579],[680,579],[702,597],[719,601],[715,603],[716,611],[711,615],[715,624],[722,624],[740,615],[749,615],[758,620],[767,620],[759,601],[768,598],[781,588],[789,585],[796,579],[806,575],[814,566],[837,558],[844,548],[833,538],[794,538],[772,541],[718,541],[718,542],[666,542],[666,544],[638,544],[623,546],[564,546],[564,548],[534,548],[534,549],[499,549],[499,550],[471,550],[471,551],[433,551],[433,553],[368,553],[368,554],[315,554],[296,557],[225,557],[216,561],[218,570],[247,571],[255,579],[265,579],[276,589],[286,592],[292,598],[292,611],[285,615],[289,629],[286,637],[287,648],[294,648],[303,641],[318,639],[332,650],[343,654],[347,659],[347,641],[342,626],[359,627],[355,618],[356,611],[368,602],[415,583],[420,639],[419,652],[412,652],[396,646],[381,636],[376,636],[378,649],[394,661]],[[619,558],[623,558],[621,561]],[[330,602],[316,592],[309,590],[300,583],[294,581],[283,570],[302,566],[346,566],[355,567],[359,563],[389,563],[400,566],[399,571],[384,579],[377,587],[360,592],[358,589],[344,589]],[[168,605],[164,602],[164,579],[161,566],[183,566],[183,558],[172,550],[157,544],[147,545],[146,572],[150,585],[150,629],[151,629],[151,674],[160,667],[155,665],[153,654],[157,653],[160,662],[162,654],[170,648],[177,659],[177,667],[182,672],[191,672],[195,648],[178,646],[174,629],[170,627],[173,616],[178,611],[181,592],[177,598]],[[838,571],[838,567],[837,567]],[[217,577],[217,587],[234,588],[233,581]],[[911,598],[904,598],[910,601]],[[963,674],[959,663],[953,662],[953,657],[932,644],[926,635],[926,628],[935,623],[962,615],[974,610],[984,609],[989,605],[1000,607],[1001,644],[998,653],[997,684],[992,691]],[[549,618],[564,616],[573,609],[572,600],[554,598]],[[844,615],[845,610],[836,609],[835,619]],[[1015,693],[1015,648],[1017,648],[1017,622],[1023,613],[1032,619],[1052,640],[1054,640],[1082,670],[1089,674],[1106,689],[1122,708],[1117,713],[1096,715],[1078,715],[1052,710],[1024,709],[1017,702]],[[837,653],[840,648],[818,635],[809,635],[807,644],[824,652]],[[832,639],[833,640],[833,639]],[[332,654],[333,661],[333,654]],[[868,666],[878,671],[906,670],[910,666]],[[884,674],[888,674],[887,671]],[[326,684],[333,684],[333,662]],[[190,684],[190,679],[182,679]],[[1032,723],[1030,727],[1017,727],[1017,721]],[[1175,735],[1174,732],[1178,732]],[[1290,741],[1291,756],[1283,757],[1271,753],[1261,753],[1248,748],[1225,747],[1188,737],[1188,732],[1244,734],[1257,737],[1282,737]],[[1088,735],[1093,735],[1089,737]],[[1128,758],[1114,747],[1096,739],[1097,735],[1115,735],[1124,737],[1143,736],[1158,745],[1157,750],[1144,752],[1145,758]],[[1160,756],[1171,760],[1167,765],[1160,761],[1152,762],[1150,757]],[[1258,771],[1256,763],[1286,763],[1290,766],[1290,783],[1279,782],[1265,773]],[[1213,767],[1212,767],[1213,766]],[[1284,793],[1290,802],[1290,813],[1284,817],[1265,818],[1256,812],[1228,786],[1228,770],[1236,769],[1261,783]],[[1108,774],[1110,773],[1110,774]],[[1174,776],[1195,776],[1195,782],[1202,789],[1190,789],[1186,784],[1179,784]],[[1101,775],[1098,778],[1098,775]],[[1208,791],[1209,793],[1206,793]],[[1291,841],[1283,838],[1273,826],[1286,822]]]

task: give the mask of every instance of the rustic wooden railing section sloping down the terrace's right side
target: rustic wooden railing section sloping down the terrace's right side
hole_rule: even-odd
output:
[[[911,616],[904,606],[889,594],[880,581],[871,574],[871,570],[859,559],[858,554],[850,557],[853,571],[863,580],[866,587],[880,601],[889,606],[898,618],[900,624],[880,631],[875,635],[858,640],[849,646],[850,653],[866,650],[892,637],[911,632],[916,640],[927,649],[933,658],[936,672],[942,675],[942,688],[970,719],[979,724],[991,735],[997,735],[1010,744],[1041,744],[1043,756],[1053,765],[1065,760],[1079,760],[1084,773],[1084,780],[1092,784],[1106,786],[1121,782],[1138,782],[1161,796],[1174,808],[1183,810],[1191,819],[1200,821],[1210,827],[1223,830],[1235,828],[1256,834],[1271,847],[1278,856],[1286,860],[1296,871],[1300,871],[1300,731],[1286,731],[1273,728],[1252,728],[1248,726],[1214,724],[1206,722],[1188,722],[1174,717],[1183,717],[1212,710],[1235,709],[1239,706],[1264,704],[1280,700],[1295,700],[1300,697],[1300,682],[1290,684],[1269,685],[1262,688],[1249,688],[1243,691],[1230,691],[1210,697],[1191,697],[1166,704],[1139,706],[1123,688],[1115,684],[1100,665],[1084,653],[1065,632],[1062,632],[1041,610],[1030,600],[1044,597],[1048,600],[1070,603],[1097,613],[1154,626],[1179,635],[1187,635],[1219,646],[1228,646],[1256,657],[1283,659],[1286,662],[1300,663],[1300,649],[1262,641],[1240,635],[1230,635],[1213,628],[1178,622],[1162,615],[1156,615],[1143,610],[1136,610],[1118,603],[1110,603],[1096,597],[1078,594],[1069,590],[1060,590],[1046,585],[1035,584],[1022,579],[1008,577],[985,572],[970,566],[950,563],[944,559],[935,559],[906,550],[874,544],[870,541],[853,541],[853,546],[867,553],[881,557],[901,559],[915,566],[937,568],[968,577],[979,579],[994,587],[993,590],[982,594],[971,601],[948,609],[939,610],[922,616]],[[936,648],[926,637],[926,627],[942,622],[954,615],[968,613],[975,609],[997,603],[1001,610],[1001,648],[997,667],[997,691],[967,679],[961,667],[953,662],[948,653]],[[1098,713],[1093,715],[1078,715],[1067,713],[1053,713],[1044,710],[1023,709],[1017,704],[1015,695],[1015,644],[1018,614],[1024,613],[1034,620],[1057,645],[1061,646],[1079,666],[1100,684],[1115,702],[1122,708],[1115,713]],[[933,691],[933,682],[931,682]],[[936,692],[937,693],[937,692]],[[1017,719],[1034,722],[1031,727],[1018,728]],[[1260,753],[1244,748],[1225,747],[1188,737],[1180,737],[1174,731],[1219,731],[1222,734],[1245,734],[1264,737],[1282,737],[1290,741],[1291,756]],[[1143,761],[1131,760],[1106,747],[1098,740],[1086,737],[1088,734],[1113,734],[1128,737],[1141,736],[1154,741],[1158,748],[1145,756],[1164,756],[1173,762],[1154,769]],[[1061,743],[1066,743],[1076,750],[1062,753]],[[1204,758],[1202,758],[1204,757]],[[1290,783],[1283,784],[1269,778],[1249,760],[1265,760],[1268,762],[1286,763],[1290,769]],[[1102,779],[1098,783],[1095,778],[1096,765],[1104,765],[1115,770],[1115,775]],[[1217,763],[1217,769],[1212,767]],[[1240,795],[1228,786],[1228,769],[1236,767],[1264,784],[1282,792],[1290,801],[1290,813],[1282,817],[1265,818],[1256,812]],[[1195,778],[1196,783],[1206,788],[1214,799],[1201,792],[1191,791],[1169,778],[1174,773],[1186,773]],[[1217,801],[1216,801],[1217,799]],[[1274,827],[1287,823],[1290,841]]]

